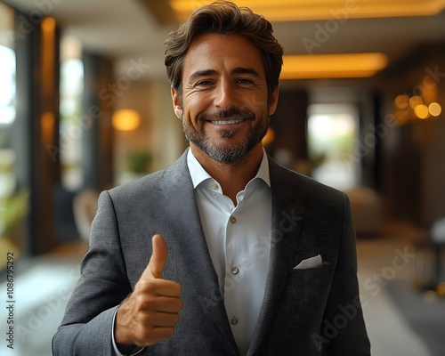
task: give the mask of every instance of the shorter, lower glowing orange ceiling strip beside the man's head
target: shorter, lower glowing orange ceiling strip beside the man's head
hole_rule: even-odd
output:
[[[383,53],[286,55],[280,79],[372,77],[386,65]]]

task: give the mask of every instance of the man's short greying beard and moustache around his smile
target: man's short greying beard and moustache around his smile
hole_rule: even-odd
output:
[[[203,150],[207,156],[221,163],[235,163],[246,157],[263,137],[267,134],[271,117],[267,113],[267,120],[263,122],[261,119],[256,120],[255,114],[251,111],[241,111],[239,109],[219,110],[211,114],[198,115],[198,123],[204,123],[207,120],[218,120],[222,118],[243,118],[253,123],[246,137],[239,143],[223,143],[213,142],[204,132],[204,126],[199,125],[198,131],[192,125],[185,124],[182,117],[182,130],[187,140],[192,142],[198,149]],[[221,138],[229,140],[236,134],[234,130],[222,130]]]

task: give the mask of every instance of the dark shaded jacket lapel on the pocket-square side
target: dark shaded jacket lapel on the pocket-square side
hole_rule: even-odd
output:
[[[263,305],[256,323],[247,355],[261,350],[263,338],[279,305],[292,271],[301,223],[303,220],[303,191],[296,190],[298,178],[269,159],[271,174],[271,260],[266,279]]]

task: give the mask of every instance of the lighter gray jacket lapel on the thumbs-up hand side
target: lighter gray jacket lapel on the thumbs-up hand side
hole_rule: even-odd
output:
[[[168,218],[172,220],[172,226],[179,226],[175,231],[175,243],[179,251],[182,255],[193,256],[187,258],[187,262],[190,279],[194,279],[193,286],[197,288],[195,292],[199,303],[206,315],[212,316],[223,337],[231,344],[233,355],[237,355],[238,347],[231,332],[218,277],[206,245],[186,157],[187,151],[166,170],[166,179],[169,182],[163,186],[168,188],[168,196],[172,199],[171,204],[168,204],[171,212]]]

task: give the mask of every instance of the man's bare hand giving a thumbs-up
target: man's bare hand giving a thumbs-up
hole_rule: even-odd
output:
[[[168,249],[160,235],[153,236],[153,254],[142,276],[117,310],[115,340],[119,351],[156,344],[174,334],[182,301],[181,286],[162,279]]]

